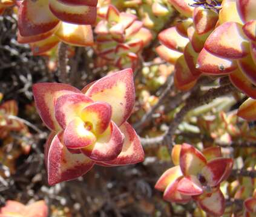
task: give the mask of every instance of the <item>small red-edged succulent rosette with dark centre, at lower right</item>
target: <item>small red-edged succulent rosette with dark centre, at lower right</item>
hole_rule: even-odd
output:
[[[228,178],[233,160],[222,157],[220,147],[212,146],[198,151],[189,144],[172,149],[174,167],[165,171],[155,188],[163,191],[163,198],[171,203],[194,200],[212,216],[222,216],[225,198],[220,183]]]

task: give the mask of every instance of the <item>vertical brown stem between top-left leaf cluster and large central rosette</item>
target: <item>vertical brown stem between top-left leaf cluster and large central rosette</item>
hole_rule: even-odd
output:
[[[59,80],[67,83],[67,49],[68,45],[64,42],[59,43],[58,48],[58,64],[59,64]]]

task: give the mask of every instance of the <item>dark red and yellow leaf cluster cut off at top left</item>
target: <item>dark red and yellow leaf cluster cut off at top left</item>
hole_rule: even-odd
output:
[[[93,45],[91,25],[96,22],[97,0],[25,0],[18,9],[18,42],[29,43],[42,55],[59,42]]]

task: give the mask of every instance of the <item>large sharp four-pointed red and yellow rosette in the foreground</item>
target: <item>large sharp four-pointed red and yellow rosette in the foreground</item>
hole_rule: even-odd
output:
[[[133,71],[125,69],[88,84],[33,86],[39,115],[51,134],[45,145],[48,183],[84,175],[93,165],[142,162],[139,137],[126,120],[135,101]]]

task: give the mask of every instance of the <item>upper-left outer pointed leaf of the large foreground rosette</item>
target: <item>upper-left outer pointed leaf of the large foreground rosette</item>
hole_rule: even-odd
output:
[[[51,130],[61,129],[54,116],[56,100],[68,93],[80,93],[80,90],[68,84],[59,83],[38,83],[34,84],[32,89],[36,108],[42,121]]]

